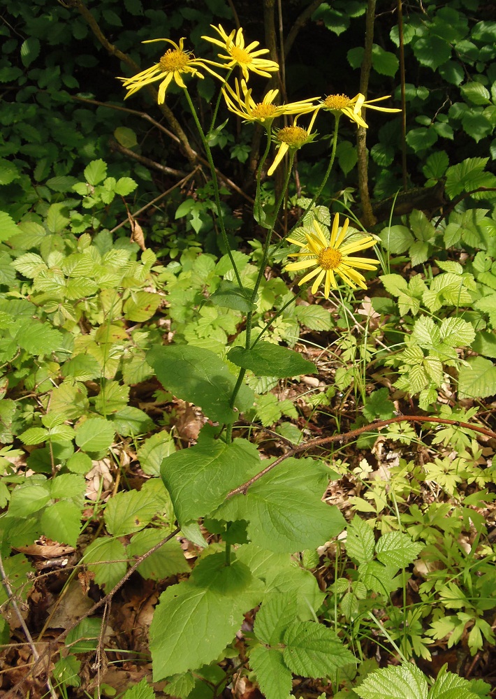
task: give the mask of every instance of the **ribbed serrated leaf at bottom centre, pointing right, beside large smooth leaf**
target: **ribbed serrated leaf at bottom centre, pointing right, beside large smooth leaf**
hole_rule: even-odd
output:
[[[334,631],[315,621],[293,624],[284,633],[283,642],[284,663],[295,675],[317,679],[356,663]]]

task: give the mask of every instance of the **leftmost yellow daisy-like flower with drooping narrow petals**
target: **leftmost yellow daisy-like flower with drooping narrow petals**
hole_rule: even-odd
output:
[[[143,41],[143,43],[153,43],[154,41],[167,41],[173,48],[168,49],[158,63],[156,63],[151,68],[147,68],[145,71],[133,75],[132,78],[119,78],[122,80],[124,87],[127,90],[126,99],[138,92],[138,89],[149,85],[151,82],[156,80],[161,80],[159,85],[159,104],[163,104],[166,99],[166,89],[170,85],[170,82],[174,80],[176,85],[185,88],[184,81],[182,80],[183,75],[194,75],[196,78],[202,78],[203,75],[198,71],[198,67],[205,69],[215,78],[222,80],[220,75],[217,75],[207,63],[212,66],[217,66],[212,61],[206,61],[200,58],[195,58],[191,51],[184,51],[184,37],[180,38],[179,45],[170,39],[150,39],[149,41]],[[218,66],[221,68],[222,66]]]

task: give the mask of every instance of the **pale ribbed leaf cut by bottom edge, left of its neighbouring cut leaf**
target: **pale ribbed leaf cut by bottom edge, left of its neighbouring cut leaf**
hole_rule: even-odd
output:
[[[353,688],[361,699],[427,699],[428,684],[415,665],[376,670]]]

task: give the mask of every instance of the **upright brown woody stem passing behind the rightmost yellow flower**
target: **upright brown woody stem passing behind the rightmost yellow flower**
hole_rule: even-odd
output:
[[[372,43],[374,41],[374,20],[376,0],[368,0],[365,18],[365,50],[363,52],[362,70],[360,74],[360,92],[367,99],[370,69],[372,68]],[[370,203],[368,165],[367,165],[367,129],[358,127],[356,134],[356,150],[358,153],[358,190],[362,203],[362,222],[365,228],[376,223]]]

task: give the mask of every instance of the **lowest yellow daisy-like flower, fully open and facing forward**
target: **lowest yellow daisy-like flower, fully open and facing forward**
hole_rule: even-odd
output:
[[[350,257],[350,254],[358,252],[358,250],[366,250],[367,247],[375,245],[377,241],[372,236],[364,236],[361,240],[344,243],[348,224],[349,219],[345,219],[342,229],[339,231],[340,216],[336,214],[333,221],[333,230],[330,233],[330,240],[328,240],[321,226],[316,221],[313,222],[315,233],[306,234],[306,243],[288,238],[289,243],[302,248],[302,252],[294,252],[289,257],[304,257],[305,259],[298,260],[298,262],[290,262],[286,264],[285,269],[289,272],[298,272],[308,267],[314,267],[311,272],[298,282],[298,286],[315,278],[312,284],[312,294],[315,294],[322,280],[324,280],[324,296],[329,298],[330,288],[337,289],[335,275],[338,275],[352,289],[356,289],[356,287],[361,289],[367,288],[365,277],[360,272],[357,272],[357,269],[374,270],[379,261],[364,257]]]

